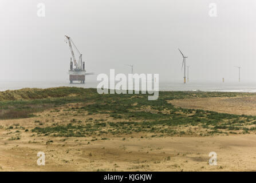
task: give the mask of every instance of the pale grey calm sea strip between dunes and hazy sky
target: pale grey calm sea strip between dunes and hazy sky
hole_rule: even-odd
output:
[[[84,88],[96,88],[99,82],[86,81],[85,84],[69,84],[68,81],[10,81],[0,82],[0,91],[5,90],[16,90],[25,87],[36,87],[36,88],[48,88],[48,87],[59,87],[59,86],[75,86]],[[160,91],[206,91],[206,92],[256,92],[256,83],[231,83],[231,82],[160,82]]]

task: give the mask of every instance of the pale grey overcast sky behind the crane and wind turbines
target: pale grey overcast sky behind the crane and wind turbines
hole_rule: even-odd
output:
[[[256,82],[255,9],[253,0],[1,0],[0,80],[68,79],[66,34],[96,73],[88,79],[133,64],[134,73],[182,82],[179,47],[190,81],[237,81],[239,65],[242,81]]]

